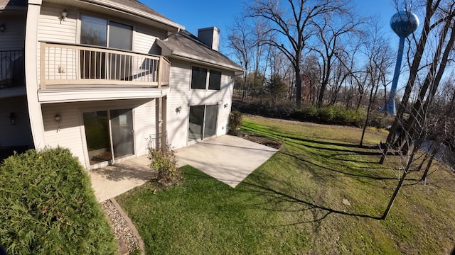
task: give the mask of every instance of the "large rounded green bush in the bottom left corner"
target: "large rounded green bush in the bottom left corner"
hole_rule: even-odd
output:
[[[117,253],[87,171],[61,148],[0,165],[0,243],[8,254]]]

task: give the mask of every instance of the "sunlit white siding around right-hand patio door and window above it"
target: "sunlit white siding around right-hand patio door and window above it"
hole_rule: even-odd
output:
[[[168,142],[175,148],[185,147],[188,142],[189,106],[215,105],[218,106],[218,123],[216,135],[227,132],[230,105],[232,103],[233,73],[222,72],[221,88],[219,91],[198,90],[191,88],[191,64],[171,60],[171,91],[168,94]],[[225,103],[228,107],[224,108]],[[180,113],[176,108],[182,107]]]

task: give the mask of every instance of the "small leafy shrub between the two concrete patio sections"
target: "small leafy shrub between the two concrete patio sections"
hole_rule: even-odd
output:
[[[149,147],[150,168],[158,171],[160,183],[176,183],[181,177],[181,171],[177,167],[176,152],[170,147],[166,149],[154,149]]]

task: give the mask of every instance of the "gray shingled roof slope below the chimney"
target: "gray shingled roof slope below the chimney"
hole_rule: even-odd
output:
[[[164,54],[166,54],[166,49],[171,52],[171,55],[166,57],[178,57],[190,61],[196,60],[221,69],[230,69],[236,72],[243,71],[242,67],[238,64],[222,53],[203,44],[196,36],[188,33],[186,30],[181,30],[166,40],[158,40],[158,45],[164,48]]]

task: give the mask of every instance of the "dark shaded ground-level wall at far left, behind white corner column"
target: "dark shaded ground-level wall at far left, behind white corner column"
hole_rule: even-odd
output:
[[[16,115],[16,125],[11,125],[11,113]],[[0,147],[33,147],[25,96],[1,98],[0,120]]]

